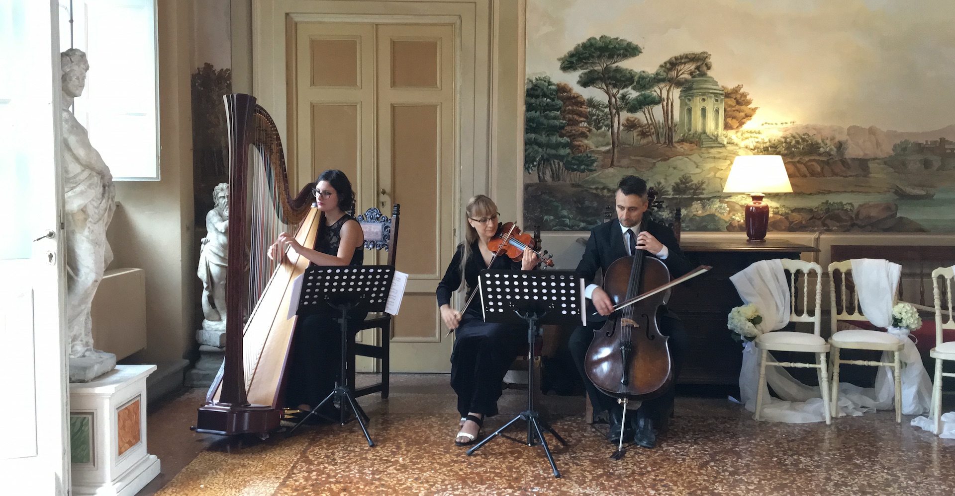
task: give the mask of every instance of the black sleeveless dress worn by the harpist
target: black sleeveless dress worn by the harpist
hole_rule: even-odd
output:
[[[342,242],[342,226],[354,217],[346,214],[328,226],[321,226],[315,239],[315,251],[337,256]],[[349,265],[361,265],[365,261],[364,248],[355,248]],[[310,264],[314,265],[314,263]],[[328,311],[300,317],[295,325],[290,362],[286,378],[286,406],[299,404],[315,406],[329,395],[341,374],[341,332],[335,318],[337,311]],[[358,326],[365,320],[366,312],[350,314],[350,324]],[[353,331],[357,332],[357,331]],[[328,407],[326,407],[328,406]],[[323,413],[337,416],[331,403],[323,406]]]

